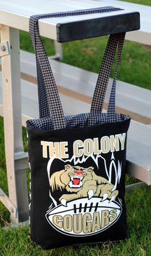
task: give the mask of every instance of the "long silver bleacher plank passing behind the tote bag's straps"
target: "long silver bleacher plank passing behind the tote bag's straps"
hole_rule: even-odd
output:
[[[20,51],[22,78],[36,83],[36,63],[35,55]],[[62,94],[75,99],[81,99],[86,103],[91,103],[97,74],[85,71],[72,65],[63,64],[56,60],[51,60],[52,71]],[[105,98],[104,108],[107,107],[109,92],[111,90],[112,79],[109,80],[109,87]],[[116,87],[116,111],[131,115],[132,119],[140,123],[151,123],[151,91],[117,81]]]

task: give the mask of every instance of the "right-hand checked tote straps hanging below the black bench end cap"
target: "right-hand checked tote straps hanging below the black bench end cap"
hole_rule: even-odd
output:
[[[118,47],[118,53],[116,58],[116,68],[113,79],[113,85],[111,87],[111,94],[109,98],[109,107],[107,108],[107,120],[111,117],[111,113],[115,115],[115,88],[116,77],[118,71],[118,64],[120,62],[120,56],[122,53],[123,42],[125,33],[110,35],[107,42],[106,50],[100,67],[99,76],[97,78],[97,84],[93,99],[91,103],[91,113],[101,113],[104,105],[104,99],[106,96],[107,85],[109,82],[109,76],[113,67],[113,61],[115,58],[116,48]]]

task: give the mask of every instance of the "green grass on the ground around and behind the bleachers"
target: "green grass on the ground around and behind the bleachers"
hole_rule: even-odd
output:
[[[128,0],[133,3],[148,4],[150,0]],[[52,40],[43,38],[48,55],[54,55]],[[99,72],[100,62],[107,37],[91,38],[63,44],[63,62],[95,73]],[[33,52],[28,33],[20,32],[20,47]],[[134,42],[125,42],[122,53],[122,65],[118,70],[118,79],[151,89],[151,53]],[[113,76],[113,73],[112,73]],[[24,148],[27,151],[26,130],[23,128]],[[27,171],[29,181],[29,173]],[[126,183],[136,180],[126,176]],[[0,117],[0,187],[8,194],[6,164],[4,156],[3,118]],[[29,189],[29,182],[28,182]],[[151,187],[138,187],[126,194],[128,238],[116,243],[93,244],[89,246],[70,246],[67,248],[44,251],[29,239],[29,227],[15,228],[7,232],[0,228],[0,256],[151,256]],[[9,223],[9,212],[0,203],[0,225]]]

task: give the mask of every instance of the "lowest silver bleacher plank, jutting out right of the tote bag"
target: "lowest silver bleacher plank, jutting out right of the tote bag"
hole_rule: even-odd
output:
[[[127,139],[127,173],[151,185],[151,126],[132,120]]]

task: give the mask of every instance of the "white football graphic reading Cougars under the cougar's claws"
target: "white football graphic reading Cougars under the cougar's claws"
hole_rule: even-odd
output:
[[[67,206],[58,205],[49,209],[47,221],[63,234],[72,236],[94,235],[113,225],[122,212],[116,201],[100,198],[81,198],[69,201]]]

